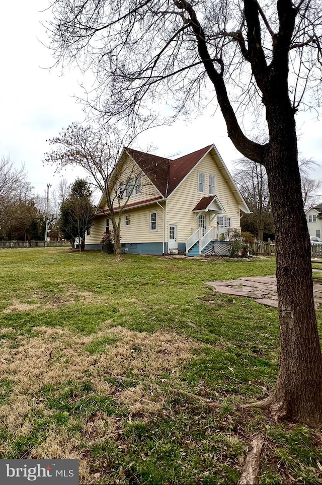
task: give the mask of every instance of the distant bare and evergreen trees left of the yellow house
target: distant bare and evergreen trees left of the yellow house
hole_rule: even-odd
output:
[[[46,218],[48,237],[66,239],[73,246],[81,241],[94,215],[92,191],[84,179],[76,179],[71,186],[61,178],[57,188],[51,189],[47,213],[46,196],[34,194],[27,181],[24,166],[16,168],[10,157],[0,160],[0,240],[44,240]]]

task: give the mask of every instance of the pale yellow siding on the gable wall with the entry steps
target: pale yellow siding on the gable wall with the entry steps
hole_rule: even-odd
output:
[[[199,173],[205,174],[204,194],[198,192]],[[210,154],[207,154],[167,201],[166,241],[169,237],[169,224],[177,224],[178,242],[185,242],[192,234],[193,230],[197,229],[198,219],[196,219],[196,221],[194,220],[196,214],[192,212],[192,209],[202,197],[207,197],[209,195],[209,175],[215,177],[215,195],[218,197],[226,211],[223,215],[225,217],[231,217],[232,227],[240,227],[240,215],[237,201],[218,170],[215,160]],[[216,217],[210,224],[210,217],[212,217],[212,215],[213,212],[206,213],[207,230],[210,229],[210,226],[217,226]]]

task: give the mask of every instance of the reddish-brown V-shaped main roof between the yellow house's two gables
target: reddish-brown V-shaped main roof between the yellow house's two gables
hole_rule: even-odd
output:
[[[132,148],[126,148],[126,151],[133,157],[137,165],[148,176],[159,192],[164,197],[168,197],[198,161],[209,151],[211,146],[205,146],[175,160],[133,150]]]

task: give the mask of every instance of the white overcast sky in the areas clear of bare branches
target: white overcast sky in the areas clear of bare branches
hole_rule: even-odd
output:
[[[49,150],[46,139],[56,136],[73,121],[83,121],[82,106],[74,95],[82,95],[82,76],[76,70],[61,73],[49,70],[53,59],[41,20],[47,0],[15,0],[3,2],[0,19],[0,155],[10,155],[19,167],[25,164],[28,180],[35,192],[44,194],[47,183],[54,187],[59,177],[43,167],[44,152]],[[322,178],[322,121],[314,113],[297,116],[301,156],[313,157],[319,165],[312,178]],[[223,118],[218,110],[214,117],[198,117],[186,123],[178,121],[171,127],[155,128],[141,140],[141,148],[152,143],[155,154],[169,156],[186,154],[214,143],[231,170],[240,158],[227,137]],[[75,171],[63,173],[70,182]],[[322,192],[321,192],[322,193]],[[322,199],[322,197],[321,197]]]

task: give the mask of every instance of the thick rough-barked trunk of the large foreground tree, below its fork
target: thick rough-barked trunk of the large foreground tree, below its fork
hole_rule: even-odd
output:
[[[270,143],[265,163],[275,224],[280,319],[279,374],[268,403],[277,419],[316,426],[322,423],[322,356],[294,113],[272,107],[267,121]]]

